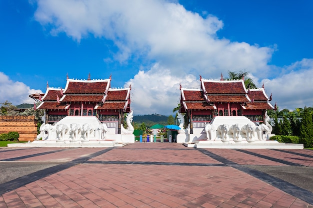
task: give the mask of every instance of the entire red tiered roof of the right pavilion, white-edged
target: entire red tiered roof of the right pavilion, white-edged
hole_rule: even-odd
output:
[[[273,109],[263,88],[246,90],[241,80],[204,80],[200,77],[201,89],[181,91],[181,109],[213,110],[217,103],[241,103],[246,110]],[[214,103],[214,105],[212,104]]]

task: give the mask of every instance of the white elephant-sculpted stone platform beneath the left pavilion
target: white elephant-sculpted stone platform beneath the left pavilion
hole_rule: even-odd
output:
[[[115,134],[115,128],[107,128],[103,134],[101,127],[95,116],[66,116],[54,125],[41,126],[35,141],[8,147],[122,147],[134,143],[133,134]]]

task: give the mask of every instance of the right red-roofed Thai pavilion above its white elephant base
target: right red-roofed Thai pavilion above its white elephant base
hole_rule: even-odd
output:
[[[203,128],[216,116],[245,116],[263,122],[265,111],[274,109],[264,88],[246,89],[244,80],[207,80],[200,76],[200,89],[180,87],[180,112],[187,113],[186,123]]]

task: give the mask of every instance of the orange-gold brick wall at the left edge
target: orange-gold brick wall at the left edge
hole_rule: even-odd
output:
[[[0,134],[16,131],[19,141],[33,141],[37,136],[34,116],[0,116]]]

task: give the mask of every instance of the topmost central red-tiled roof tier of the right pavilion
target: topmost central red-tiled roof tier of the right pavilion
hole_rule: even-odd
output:
[[[246,93],[243,87],[242,80],[235,81],[210,81],[201,80],[204,84],[206,93],[217,94],[243,94]]]

